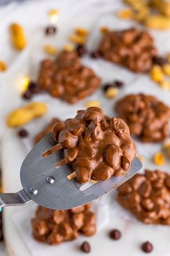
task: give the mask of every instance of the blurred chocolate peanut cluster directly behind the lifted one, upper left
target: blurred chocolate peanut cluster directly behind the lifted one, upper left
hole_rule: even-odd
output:
[[[62,51],[55,61],[42,61],[38,82],[50,95],[76,103],[94,93],[101,80],[89,67],[81,64],[76,51]]]

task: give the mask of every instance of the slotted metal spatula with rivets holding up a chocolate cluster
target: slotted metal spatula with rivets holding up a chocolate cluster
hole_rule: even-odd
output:
[[[51,133],[40,140],[22,163],[20,179],[23,189],[17,193],[0,195],[0,207],[7,205],[24,205],[32,200],[45,208],[66,210],[85,205],[98,197],[116,189],[122,183],[132,178],[142,168],[142,163],[135,158],[130,171],[124,176],[112,176],[105,182],[97,182],[81,191],[80,184],[75,179],[67,179],[71,174],[71,166],[66,164],[56,169],[55,165],[62,160],[60,151],[43,158],[42,153],[53,147]]]

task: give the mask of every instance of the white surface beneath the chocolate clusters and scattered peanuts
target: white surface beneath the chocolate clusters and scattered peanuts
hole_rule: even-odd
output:
[[[69,5],[69,8],[62,6]],[[76,4],[75,4],[76,2]],[[92,3],[96,4],[95,6]],[[102,1],[101,1],[102,2]],[[33,2],[23,4],[17,7],[16,4],[12,4],[6,7],[6,12],[0,10],[0,17],[2,17],[2,30],[0,37],[3,38],[4,48],[8,48],[9,51],[3,51],[4,58],[10,64],[10,69],[6,74],[0,77],[2,90],[0,92],[0,104],[3,101],[3,116],[16,108],[21,106],[24,102],[19,95],[20,79],[26,74],[31,74],[32,77],[36,77],[37,67],[40,59],[44,57],[42,53],[42,46],[47,43],[55,43],[58,48],[61,48],[64,43],[68,42],[68,35],[71,33],[74,27],[82,26],[88,27],[91,30],[88,47],[95,48],[99,41],[98,27],[100,25],[107,25],[115,29],[124,28],[130,26],[132,23],[125,24],[115,17],[115,10],[119,9],[120,1],[104,1],[104,4],[100,4],[100,1],[58,1],[54,4],[53,1],[41,1],[41,3]],[[17,8],[16,8],[17,7]],[[32,8],[33,7],[33,8]],[[45,38],[43,35],[43,27],[48,24],[47,12],[51,8],[61,9],[61,16],[58,20],[58,33],[53,38]],[[38,9],[38,15],[37,15]],[[14,11],[14,12],[12,12]],[[10,14],[10,16],[9,16]],[[31,19],[28,19],[31,17]],[[25,31],[27,31],[27,37],[29,38],[29,47],[21,54],[16,54],[11,51],[9,47],[8,38],[6,37],[6,28],[12,21],[18,21],[24,25]],[[4,35],[2,37],[2,35]],[[158,33],[153,32],[156,39],[156,45],[161,53],[170,51],[170,35],[169,32]],[[102,60],[91,60],[88,57],[84,58],[84,63],[92,67],[99,76],[102,77],[104,82],[109,82],[115,79],[125,81],[125,88],[120,90],[120,97],[127,93],[145,92],[157,95],[162,101],[170,104],[170,93],[164,92],[156,84],[151,82],[147,75],[137,75],[132,72],[128,72],[126,69],[117,67],[114,64],[106,63]],[[0,89],[1,90],[1,89]],[[97,93],[91,95],[90,99],[99,99],[102,103],[102,108],[106,114],[112,116],[112,105],[115,101],[108,101],[104,98],[102,90],[98,90]],[[21,188],[19,182],[19,167],[27,154],[27,148],[30,148],[32,143],[32,137],[35,133],[42,129],[42,124],[45,124],[50,120],[51,116],[58,116],[61,119],[65,119],[76,114],[78,109],[84,108],[84,103],[89,100],[86,98],[81,103],[76,105],[68,105],[62,101],[51,98],[49,95],[37,95],[33,98],[34,101],[45,101],[48,103],[48,115],[43,119],[33,121],[26,127],[32,134],[29,140],[25,140],[24,143],[16,136],[16,130],[6,129],[2,140],[1,161],[3,167],[3,182],[4,191],[14,192]],[[118,99],[117,98],[117,99]],[[59,106],[59,107],[58,107]],[[0,128],[0,135],[3,132],[3,125]],[[151,157],[155,151],[157,151],[161,145],[142,145],[138,142],[138,152],[146,156],[145,166],[147,168],[157,168],[151,163]],[[169,170],[169,163],[163,167],[164,170]],[[49,247],[46,244],[39,244],[32,239],[30,229],[30,218],[32,218],[35,205],[26,205],[22,208],[6,208],[5,213],[5,236],[6,244],[9,255],[16,256],[36,256],[36,255],[80,255],[78,246],[83,240],[89,240],[92,250],[91,256],[140,256],[143,252],[140,251],[140,243],[149,240],[154,244],[154,251],[151,255],[154,256],[168,256],[170,255],[169,248],[169,236],[170,229],[162,226],[146,226],[138,221],[134,221],[132,216],[127,215],[125,211],[120,210],[120,207],[114,200],[114,193],[111,193],[102,198],[100,207],[97,210],[98,227],[99,231],[96,236],[87,239],[85,236],[81,236],[74,242],[61,244],[60,246]],[[107,212],[109,208],[109,213]],[[102,220],[102,221],[101,221]],[[101,225],[102,223],[102,225]],[[122,231],[122,239],[117,242],[113,242],[108,239],[108,231],[112,228],[118,228]],[[160,241],[159,241],[160,239]]]

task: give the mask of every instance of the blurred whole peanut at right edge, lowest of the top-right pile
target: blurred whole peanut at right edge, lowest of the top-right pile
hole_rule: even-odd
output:
[[[146,27],[155,29],[166,29],[170,28],[170,17],[165,17],[161,14],[151,14],[146,18]]]

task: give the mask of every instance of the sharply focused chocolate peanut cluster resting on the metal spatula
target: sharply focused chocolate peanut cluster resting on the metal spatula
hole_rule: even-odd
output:
[[[128,125],[122,119],[105,116],[97,107],[78,111],[73,119],[55,124],[53,137],[81,183],[125,174],[136,153]]]

